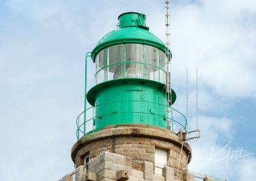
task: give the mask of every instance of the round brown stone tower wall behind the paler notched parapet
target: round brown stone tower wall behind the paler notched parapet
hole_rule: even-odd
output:
[[[116,129],[119,134],[115,134]],[[142,171],[143,163],[145,162],[152,163],[154,168],[155,148],[159,148],[161,150],[166,150],[168,157],[166,166],[174,168],[174,178],[176,180],[183,180],[184,173],[188,171],[187,166],[190,157],[188,154],[188,148],[190,147],[188,147],[188,145],[184,143],[187,150],[181,150],[180,144],[182,144],[182,142],[179,140],[179,137],[173,133],[166,133],[166,131],[163,132],[162,130],[152,130],[140,127],[139,129],[136,129],[136,134],[131,134],[131,129],[133,128],[119,127],[112,129],[109,136],[107,136],[108,134],[106,134],[106,132],[103,133],[105,137],[102,136],[102,134],[97,133],[99,134],[100,139],[98,138],[91,141],[90,138],[87,138],[87,140],[84,140],[85,144],[80,144],[80,147],[76,152],[76,166],[84,165],[85,156],[89,155],[90,160],[92,160],[104,152],[114,152],[120,156],[130,157],[131,169]],[[154,134],[152,134],[152,131],[154,131]],[[161,139],[161,137],[159,137],[159,135],[161,135],[164,138],[168,138],[168,134],[173,134],[172,140],[176,139],[178,143],[172,140],[170,141],[170,139]],[[150,138],[147,138],[148,136],[150,136]],[[95,138],[95,135],[92,135],[92,138]],[[179,143],[179,141],[181,143]],[[152,170],[152,173],[154,173],[154,169]]]

